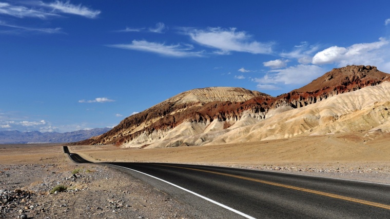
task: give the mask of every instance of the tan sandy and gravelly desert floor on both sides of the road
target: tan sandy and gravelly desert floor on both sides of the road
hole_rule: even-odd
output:
[[[390,135],[294,137],[232,145],[129,149],[70,146],[93,162],[218,165],[390,184]],[[59,190],[66,187],[65,191]],[[54,190],[57,189],[57,192]],[[0,218],[200,218],[198,209],[61,145],[0,145]]]

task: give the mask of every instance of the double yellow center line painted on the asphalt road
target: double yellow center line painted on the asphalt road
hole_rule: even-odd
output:
[[[195,171],[200,171],[200,172],[213,173],[213,174],[218,174],[218,175],[225,175],[225,176],[230,176],[230,177],[235,177],[235,178],[241,178],[242,180],[248,180],[248,181],[263,183],[263,184],[272,185],[272,186],[278,186],[278,187],[294,189],[294,190],[303,191],[303,192],[309,192],[309,193],[313,193],[313,194],[338,198],[340,200],[345,200],[345,201],[350,201],[350,202],[355,202],[355,203],[360,203],[360,204],[364,204],[364,205],[370,205],[370,206],[375,206],[378,208],[384,208],[384,209],[390,210],[390,205],[384,205],[384,204],[380,204],[380,203],[360,200],[357,198],[346,197],[346,196],[336,195],[336,194],[327,193],[327,192],[320,192],[320,191],[316,191],[316,190],[312,190],[312,189],[305,189],[305,188],[296,187],[296,186],[289,186],[289,185],[274,183],[274,182],[270,182],[270,181],[258,180],[257,178],[249,178],[249,177],[233,175],[233,174],[229,174],[229,173],[215,172],[215,171],[210,171],[210,170],[201,170],[201,169],[188,168],[188,167],[176,167],[176,166],[170,166],[170,165],[158,165],[158,166],[166,166],[166,167],[173,167],[173,168],[180,168],[180,169],[187,169],[187,170],[195,170]]]

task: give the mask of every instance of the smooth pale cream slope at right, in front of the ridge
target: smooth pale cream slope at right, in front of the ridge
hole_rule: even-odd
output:
[[[285,111],[221,135],[212,143],[238,143],[279,139],[297,135],[322,135],[367,131],[389,126],[390,83],[330,97],[306,107]],[[249,128],[250,127],[250,128]],[[245,131],[249,131],[245,133]],[[239,133],[236,133],[239,132]]]

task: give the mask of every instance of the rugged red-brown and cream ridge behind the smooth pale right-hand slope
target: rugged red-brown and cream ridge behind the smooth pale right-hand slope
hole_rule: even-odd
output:
[[[226,139],[219,142],[213,139],[232,134],[232,129],[249,129],[249,125],[285,111],[389,80],[389,74],[376,67],[347,66],[333,69],[310,84],[277,97],[242,88],[195,89],[127,117],[111,131],[79,144],[112,143],[124,147],[224,144]],[[183,140],[184,136],[187,137]],[[180,137],[181,140],[172,141]]]

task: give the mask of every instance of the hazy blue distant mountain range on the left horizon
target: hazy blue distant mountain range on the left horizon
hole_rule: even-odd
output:
[[[111,128],[95,128],[89,130],[77,130],[73,132],[19,132],[0,131],[0,144],[29,144],[29,143],[68,143],[78,142],[92,136],[101,135]]]

